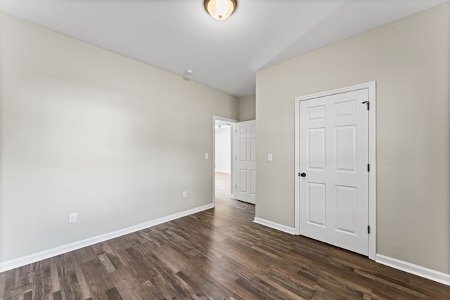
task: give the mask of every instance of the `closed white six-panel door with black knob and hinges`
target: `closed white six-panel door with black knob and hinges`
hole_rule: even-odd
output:
[[[300,101],[300,235],[368,255],[368,90]]]

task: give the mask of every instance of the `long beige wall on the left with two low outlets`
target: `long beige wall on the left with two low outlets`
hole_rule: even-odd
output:
[[[238,98],[4,14],[0,65],[0,263],[212,203]]]

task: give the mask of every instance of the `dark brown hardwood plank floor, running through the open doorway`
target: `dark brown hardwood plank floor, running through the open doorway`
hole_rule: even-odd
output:
[[[216,207],[0,273],[0,299],[450,299],[450,287]]]

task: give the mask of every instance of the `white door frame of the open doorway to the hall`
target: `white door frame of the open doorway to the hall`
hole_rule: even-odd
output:
[[[236,195],[236,122],[238,120],[229,119],[225,117],[212,116],[212,129],[216,125],[216,121],[230,122],[230,134],[231,134],[231,191],[230,197],[233,198]],[[216,131],[212,131],[212,204],[216,204]]]

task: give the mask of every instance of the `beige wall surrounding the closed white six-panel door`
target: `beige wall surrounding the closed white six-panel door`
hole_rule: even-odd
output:
[[[256,216],[294,227],[294,98],[376,81],[377,253],[450,273],[449,70],[446,3],[258,72]]]

